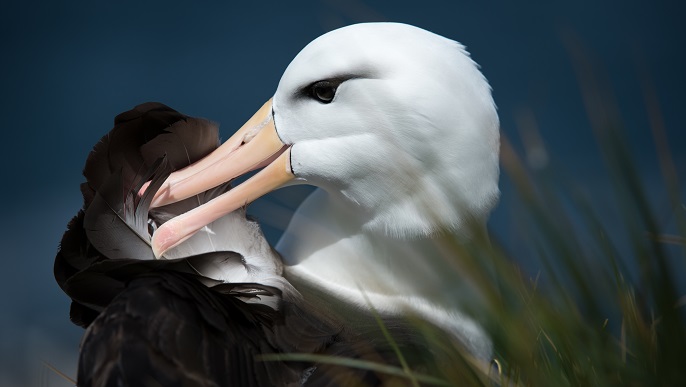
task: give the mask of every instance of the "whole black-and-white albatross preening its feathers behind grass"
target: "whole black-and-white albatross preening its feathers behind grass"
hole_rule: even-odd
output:
[[[469,244],[485,226],[498,130],[465,48],[398,23],[314,40],[220,146],[215,125],[162,104],[120,114],[88,158],[84,209],[55,259],[88,328],[79,384],[377,384],[321,359],[256,356],[400,365],[400,350],[426,371],[441,352],[417,318],[488,362],[488,335],[461,309],[474,293],[442,242]],[[243,208],[292,184],[318,189],[276,253]]]

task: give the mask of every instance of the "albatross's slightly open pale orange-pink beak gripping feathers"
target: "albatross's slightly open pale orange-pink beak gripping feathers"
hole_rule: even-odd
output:
[[[155,256],[161,257],[204,226],[292,180],[295,176],[290,154],[290,147],[276,133],[270,99],[224,144],[195,164],[172,173],[155,194],[152,207],[159,207],[264,167],[229,192],[160,226],[152,236]]]

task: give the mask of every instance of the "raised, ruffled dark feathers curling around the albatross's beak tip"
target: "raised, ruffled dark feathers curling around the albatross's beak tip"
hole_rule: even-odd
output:
[[[199,160],[218,144],[215,124],[160,103],[141,104],[115,118],[114,128],[87,158],[86,182],[81,185],[84,208],[69,223],[55,257],[55,279],[73,300],[72,321],[88,325],[93,313],[103,310],[135,275],[179,270],[201,278],[196,266],[241,262],[231,251],[196,256],[193,262],[152,262],[148,210],[154,193],[173,170]],[[149,189],[139,197],[147,181]],[[206,195],[227,189],[225,185]],[[197,206],[197,201],[157,209],[155,221],[163,223]]]

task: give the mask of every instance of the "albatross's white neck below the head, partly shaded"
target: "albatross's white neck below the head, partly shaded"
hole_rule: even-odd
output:
[[[452,332],[477,356],[490,356],[488,336],[459,312],[460,300],[474,294],[447,267],[440,237],[393,238],[365,231],[364,222],[316,190],[276,246],[286,278],[306,298],[317,293],[329,308],[338,303],[344,309],[373,306],[382,315],[409,312]]]

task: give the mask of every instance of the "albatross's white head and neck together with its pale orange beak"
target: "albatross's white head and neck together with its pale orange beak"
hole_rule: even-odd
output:
[[[464,46],[405,24],[347,26],[307,45],[242,128],[169,177],[153,206],[262,168],[162,225],[152,248],[163,257],[274,189],[314,185],[276,245],[285,278],[322,307],[416,314],[487,358],[488,336],[445,291],[459,279],[442,276],[437,246],[485,224],[498,149],[491,89]]]

